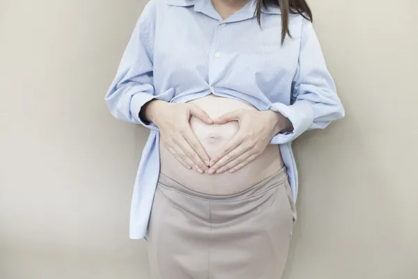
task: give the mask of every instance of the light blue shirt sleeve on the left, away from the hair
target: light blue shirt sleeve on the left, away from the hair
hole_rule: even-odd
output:
[[[156,98],[153,84],[153,1],[146,4],[130,37],[116,77],[104,97],[116,119],[157,129],[139,117],[141,107]]]

